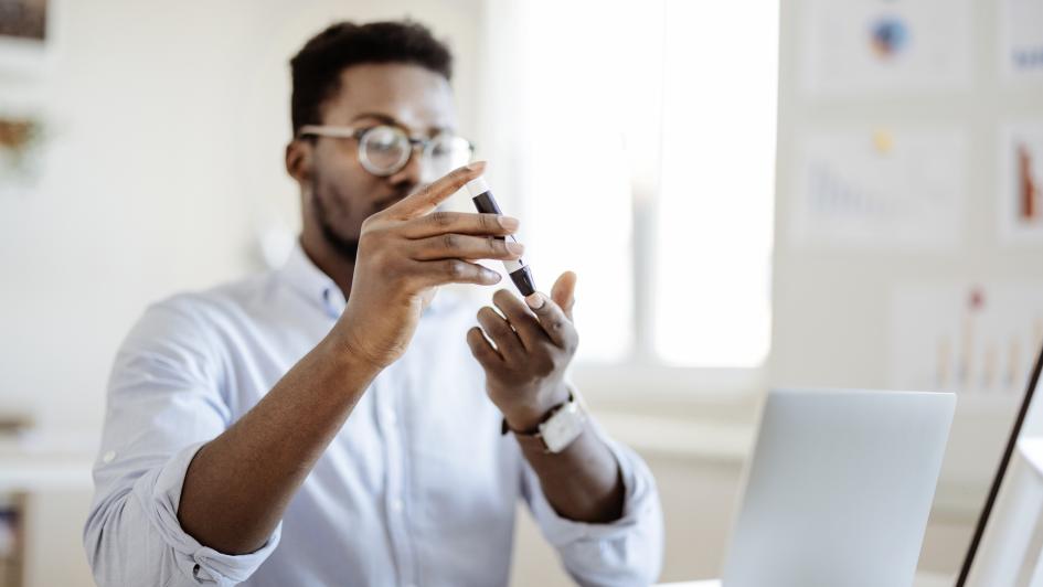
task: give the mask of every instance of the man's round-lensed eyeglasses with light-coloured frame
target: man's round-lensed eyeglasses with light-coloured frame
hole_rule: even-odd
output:
[[[422,161],[430,166],[435,177],[467,164],[475,152],[475,146],[469,140],[450,132],[441,132],[429,139],[417,138],[391,125],[368,128],[307,125],[300,127],[297,137],[354,139],[359,141],[359,163],[370,173],[382,178],[402,170],[414,151],[422,153]]]

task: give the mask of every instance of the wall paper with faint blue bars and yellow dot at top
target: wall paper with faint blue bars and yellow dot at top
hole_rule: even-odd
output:
[[[790,233],[798,245],[946,249],[964,223],[959,129],[817,131],[797,149]]]

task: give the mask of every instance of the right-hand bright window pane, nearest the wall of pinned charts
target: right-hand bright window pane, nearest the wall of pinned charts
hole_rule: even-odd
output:
[[[778,3],[667,3],[656,352],[752,367],[770,341]]]

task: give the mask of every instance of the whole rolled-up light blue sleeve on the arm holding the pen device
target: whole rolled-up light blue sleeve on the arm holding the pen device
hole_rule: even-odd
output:
[[[235,585],[278,545],[281,526],[258,551],[226,555],[178,521],[192,458],[231,419],[210,335],[192,301],[174,298],[149,308],[117,354],[84,529],[102,587]]]

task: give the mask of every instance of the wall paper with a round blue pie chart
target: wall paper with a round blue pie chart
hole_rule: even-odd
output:
[[[967,87],[971,7],[970,0],[809,0],[803,88],[850,96]]]

